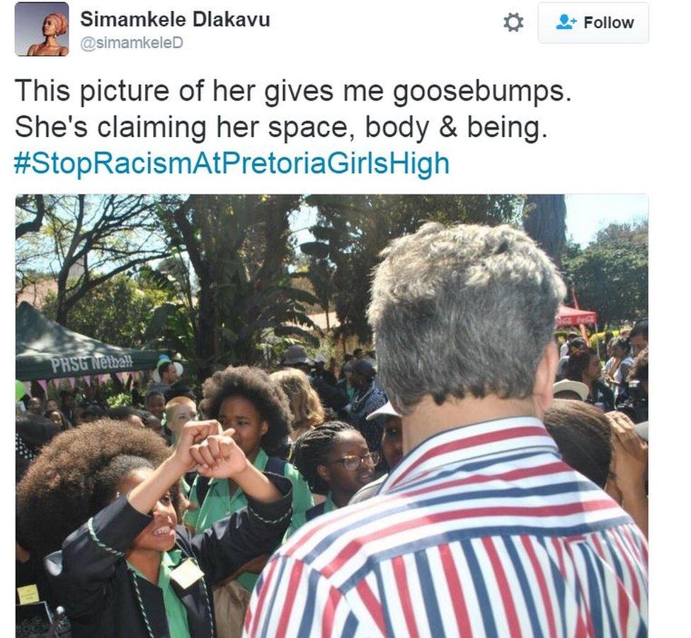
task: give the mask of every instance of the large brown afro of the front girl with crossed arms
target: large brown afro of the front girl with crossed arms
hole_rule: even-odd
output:
[[[115,497],[102,484],[114,459],[140,457],[159,466],[170,454],[154,432],[122,421],[102,419],[62,432],[17,486],[19,543],[39,556],[55,552]],[[177,483],[171,496],[177,505]]]

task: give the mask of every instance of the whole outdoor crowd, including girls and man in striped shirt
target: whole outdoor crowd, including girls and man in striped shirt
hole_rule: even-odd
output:
[[[75,637],[644,635],[647,322],[560,358],[564,286],[507,227],[383,257],[377,352],[25,398],[18,587]]]

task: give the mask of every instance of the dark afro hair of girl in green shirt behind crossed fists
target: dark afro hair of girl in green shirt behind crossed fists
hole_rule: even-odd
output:
[[[288,398],[262,369],[228,366],[204,381],[202,390],[205,415],[210,419],[218,418],[221,404],[229,397],[241,396],[250,401],[268,423],[261,447],[270,456],[278,452],[282,440],[290,435],[292,415]]]

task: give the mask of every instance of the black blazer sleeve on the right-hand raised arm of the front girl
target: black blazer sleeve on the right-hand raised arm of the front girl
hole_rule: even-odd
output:
[[[292,483],[265,473],[282,493],[273,503],[247,498],[247,507],[214,523],[191,539],[192,550],[207,581],[215,585],[262,554],[270,554],[287,530],[292,515]]]

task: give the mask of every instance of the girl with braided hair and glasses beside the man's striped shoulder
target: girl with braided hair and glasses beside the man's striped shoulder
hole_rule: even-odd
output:
[[[308,520],[348,505],[374,478],[379,454],[370,452],[365,438],[352,425],[328,421],[299,437],[292,459],[312,491],[326,495],[326,500],[304,515],[293,515],[286,537]]]

